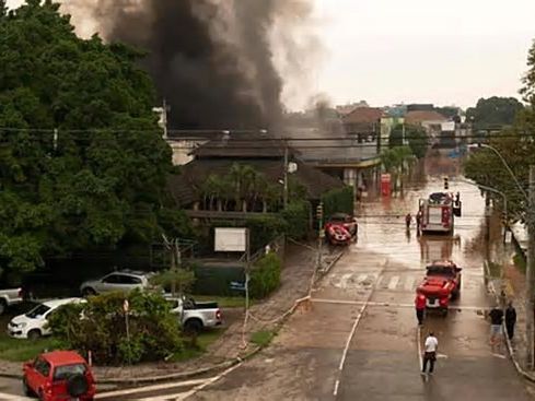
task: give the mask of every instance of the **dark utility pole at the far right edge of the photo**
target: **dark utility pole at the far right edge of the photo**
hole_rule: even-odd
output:
[[[535,368],[534,364],[534,304],[533,291],[535,288],[535,165],[530,166],[530,193],[527,202],[527,267],[526,267],[526,339],[527,366]]]

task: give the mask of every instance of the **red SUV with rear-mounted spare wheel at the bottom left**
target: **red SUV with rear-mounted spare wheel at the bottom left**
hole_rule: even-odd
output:
[[[93,401],[96,391],[90,366],[73,351],[47,352],[26,362],[22,386],[40,401]]]

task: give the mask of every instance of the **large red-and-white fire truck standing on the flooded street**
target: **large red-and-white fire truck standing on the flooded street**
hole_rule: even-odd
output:
[[[454,217],[461,216],[458,193],[434,192],[420,199],[420,229],[422,234],[453,234]]]

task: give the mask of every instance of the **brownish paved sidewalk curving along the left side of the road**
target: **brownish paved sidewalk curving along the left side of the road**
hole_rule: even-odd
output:
[[[325,249],[323,256],[324,266],[330,264],[339,256],[340,250],[329,252]],[[257,331],[274,331],[282,322],[283,316],[292,310],[295,300],[307,295],[311,276],[316,263],[316,253],[298,245],[287,245],[284,268],[282,270],[281,286],[268,299],[254,305],[249,311],[249,318],[245,335],[243,331],[244,310],[241,310],[241,319],[232,323],[218,341],[210,345],[200,357],[183,363],[155,363],[137,365],[132,367],[94,367],[97,381],[101,384],[133,384],[162,381],[165,379],[183,379],[201,374],[208,374],[232,366],[240,358],[254,353],[257,347],[246,344],[243,339],[249,341],[251,334]],[[260,320],[255,320],[261,319]],[[21,363],[1,361],[0,376],[21,376]]]

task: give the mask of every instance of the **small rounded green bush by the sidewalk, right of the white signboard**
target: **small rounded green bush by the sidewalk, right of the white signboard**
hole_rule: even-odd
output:
[[[249,295],[252,298],[265,298],[280,285],[282,262],[275,252],[259,259],[252,269]]]

